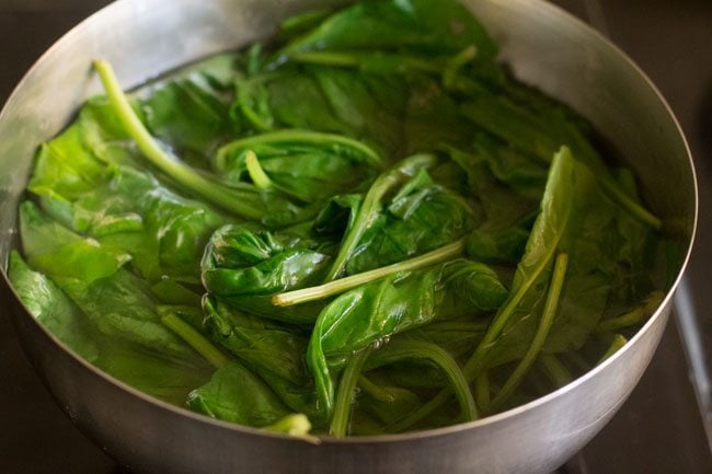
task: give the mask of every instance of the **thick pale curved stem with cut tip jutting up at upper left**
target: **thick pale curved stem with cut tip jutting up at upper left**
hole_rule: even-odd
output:
[[[128,97],[122,90],[112,65],[105,60],[95,60],[94,68],[104,85],[108,101],[126,132],[136,141],[139,150],[159,170],[183,186],[193,189],[210,203],[248,219],[261,219],[263,212],[244,204],[243,196],[196,173],[164,150],[141,123]]]

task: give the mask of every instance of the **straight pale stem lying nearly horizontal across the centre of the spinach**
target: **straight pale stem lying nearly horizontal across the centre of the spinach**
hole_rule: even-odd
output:
[[[301,290],[287,291],[285,293],[275,294],[272,297],[272,304],[276,307],[291,307],[309,301],[323,300],[324,298],[343,293],[353,288],[359,287],[370,281],[379,280],[399,271],[412,271],[435,265],[439,262],[447,262],[461,255],[462,252],[464,252],[463,239],[445,245],[433,252],[428,252],[426,254],[410,258],[407,261],[399,262],[397,264],[376,268],[369,271],[364,271],[361,274],[352,275],[345,278],[330,281],[324,285],[320,285],[318,287],[303,288]]]

